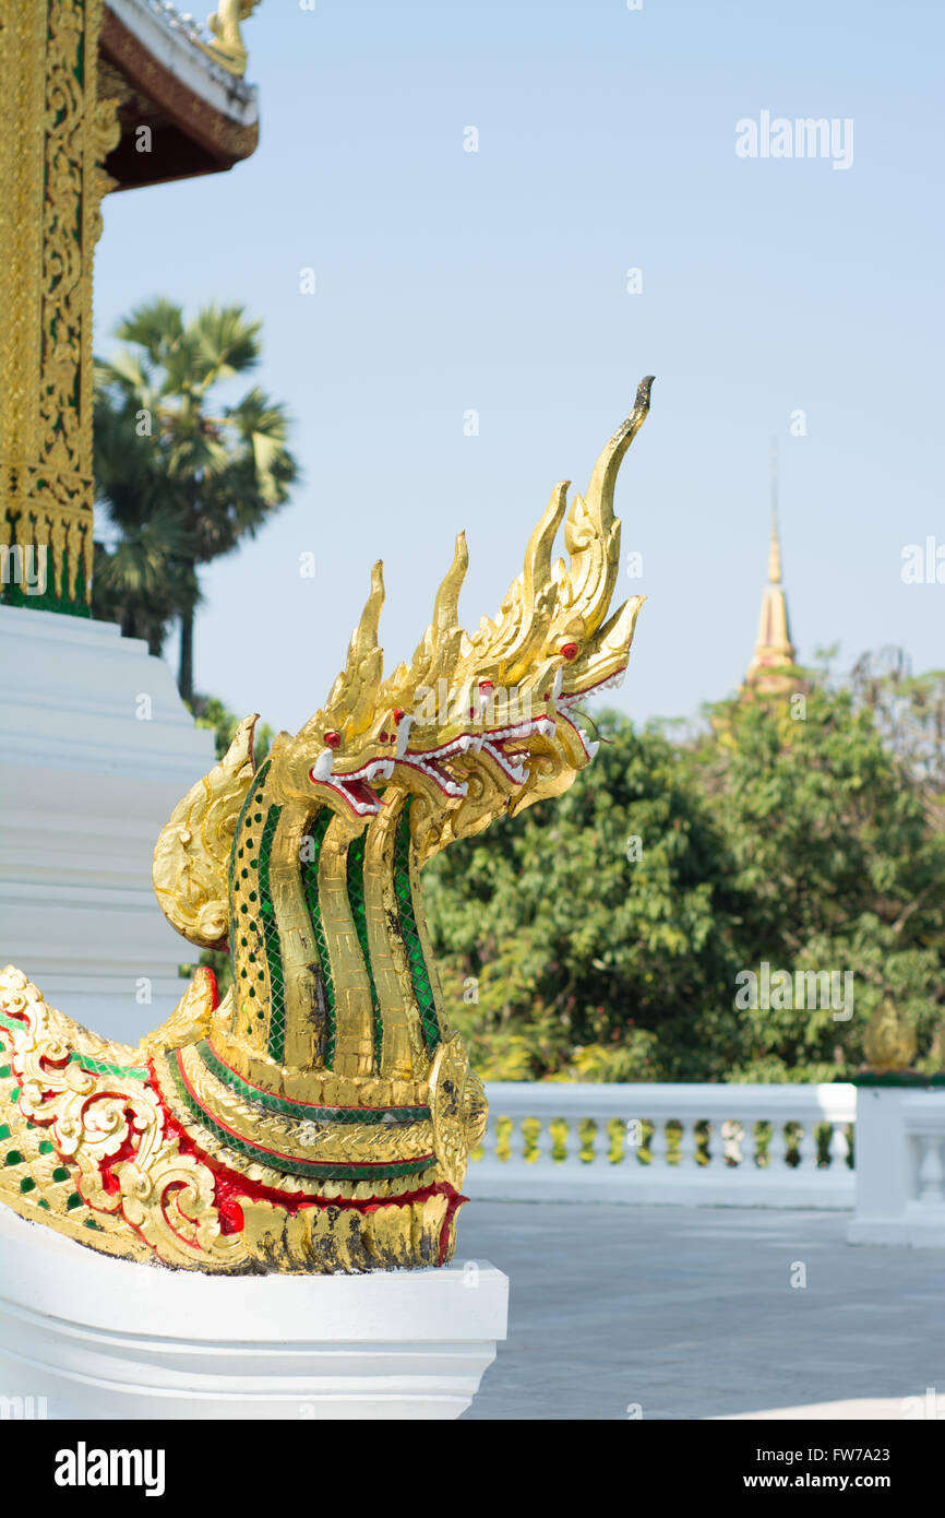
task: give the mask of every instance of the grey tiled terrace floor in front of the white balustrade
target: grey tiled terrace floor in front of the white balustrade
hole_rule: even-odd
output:
[[[457,1255],[505,1271],[511,1312],[464,1416],[945,1419],[945,1249],[854,1248],[846,1220],[470,1202]]]

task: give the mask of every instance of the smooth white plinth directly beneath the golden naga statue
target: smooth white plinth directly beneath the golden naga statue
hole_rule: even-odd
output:
[[[507,1318],[508,1278],[487,1263],[211,1277],[112,1260],[0,1207],[5,1409],[94,1419],[458,1418]]]

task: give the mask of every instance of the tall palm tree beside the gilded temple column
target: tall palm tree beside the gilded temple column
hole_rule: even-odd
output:
[[[159,651],[181,624],[177,686],[194,700],[199,566],[255,537],[285,504],[299,466],[285,408],[253,387],[234,405],[215,389],[259,361],[259,322],[205,307],[185,323],[156,299],[96,366],[96,484],[108,531],[96,545],[93,609]],[[111,537],[111,542],[109,542]]]

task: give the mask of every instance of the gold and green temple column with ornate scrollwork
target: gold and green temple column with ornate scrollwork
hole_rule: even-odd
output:
[[[30,594],[70,609],[91,584],[93,249],[117,102],[97,99],[102,0],[11,11],[0,27],[0,545],[41,551],[42,587]]]

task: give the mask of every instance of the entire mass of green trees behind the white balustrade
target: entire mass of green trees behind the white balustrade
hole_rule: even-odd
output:
[[[884,996],[934,1064],[945,833],[940,774],[913,750],[919,730],[925,753],[936,720],[922,686],[913,718],[898,712],[910,736],[896,747],[892,700],[886,685],[871,701],[862,679],[834,689],[821,677],[802,715],[724,703],[708,732],[675,744],[608,715],[598,759],[563,798],[438,856],[431,929],[479,1069],[837,1079],[860,1066]],[[736,978],[761,961],[852,973],[852,1016],[737,1006]]]

